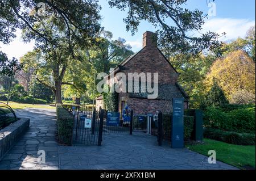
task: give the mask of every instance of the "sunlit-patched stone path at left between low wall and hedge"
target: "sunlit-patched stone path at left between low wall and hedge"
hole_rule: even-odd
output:
[[[30,118],[30,128],[2,159],[0,169],[59,169],[55,110],[27,108],[15,112],[18,117]],[[46,153],[45,164],[38,164],[39,150]]]

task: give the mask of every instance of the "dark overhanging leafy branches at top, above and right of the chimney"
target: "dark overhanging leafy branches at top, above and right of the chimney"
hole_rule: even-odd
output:
[[[207,15],[200,10],[185,8],[187,0],[109,0],[110,7],[127,11],[124,19],[126,30],[134,33],[139,23],[147,20],[158,28],[160,45],[171,47],[173,51],[199,53],[201,50],[220,48],[222,44],[214,32],[189,36],[191,32],[200,32]]]

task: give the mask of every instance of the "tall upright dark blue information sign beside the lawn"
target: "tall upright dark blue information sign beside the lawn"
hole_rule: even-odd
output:
[[[184,148],[184,99],[172,99],[172,148]]]

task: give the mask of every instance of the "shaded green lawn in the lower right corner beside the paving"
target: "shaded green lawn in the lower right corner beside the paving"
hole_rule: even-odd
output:
[[[251,166],[255,169],[255,145],[241,146],[227,144],[221,141],[204,139],[203,144],[185,145],[186,148],[197,153],[208,155],[209,150],[216,151],[218,161],[228,163],[242,169],[243,166]]]

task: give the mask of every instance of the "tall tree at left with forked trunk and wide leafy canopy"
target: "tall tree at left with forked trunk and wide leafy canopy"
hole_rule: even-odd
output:
[[[36,79],[55,92],[61,103],[61,86],[68,60],[77,58],[75,49],[93,43],[100,31],[97,1],[92,0],[9,0],[0,3],[1,35],[3,43],[15,37],[16,28],[23,30],[23,40],[35,40],[35,47],[44,55],[44,64],[52,70],[54,86]]]

